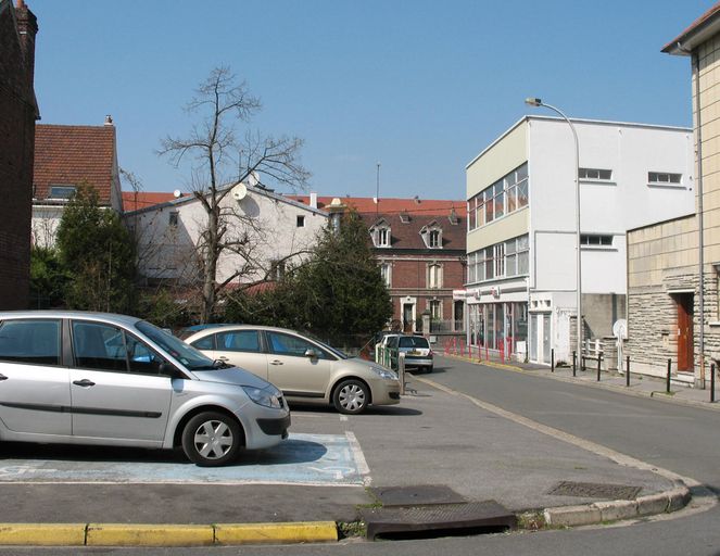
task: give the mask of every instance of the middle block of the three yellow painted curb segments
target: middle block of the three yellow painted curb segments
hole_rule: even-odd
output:
[[[213,526],[89,523],[88,546],[206,546]]]

